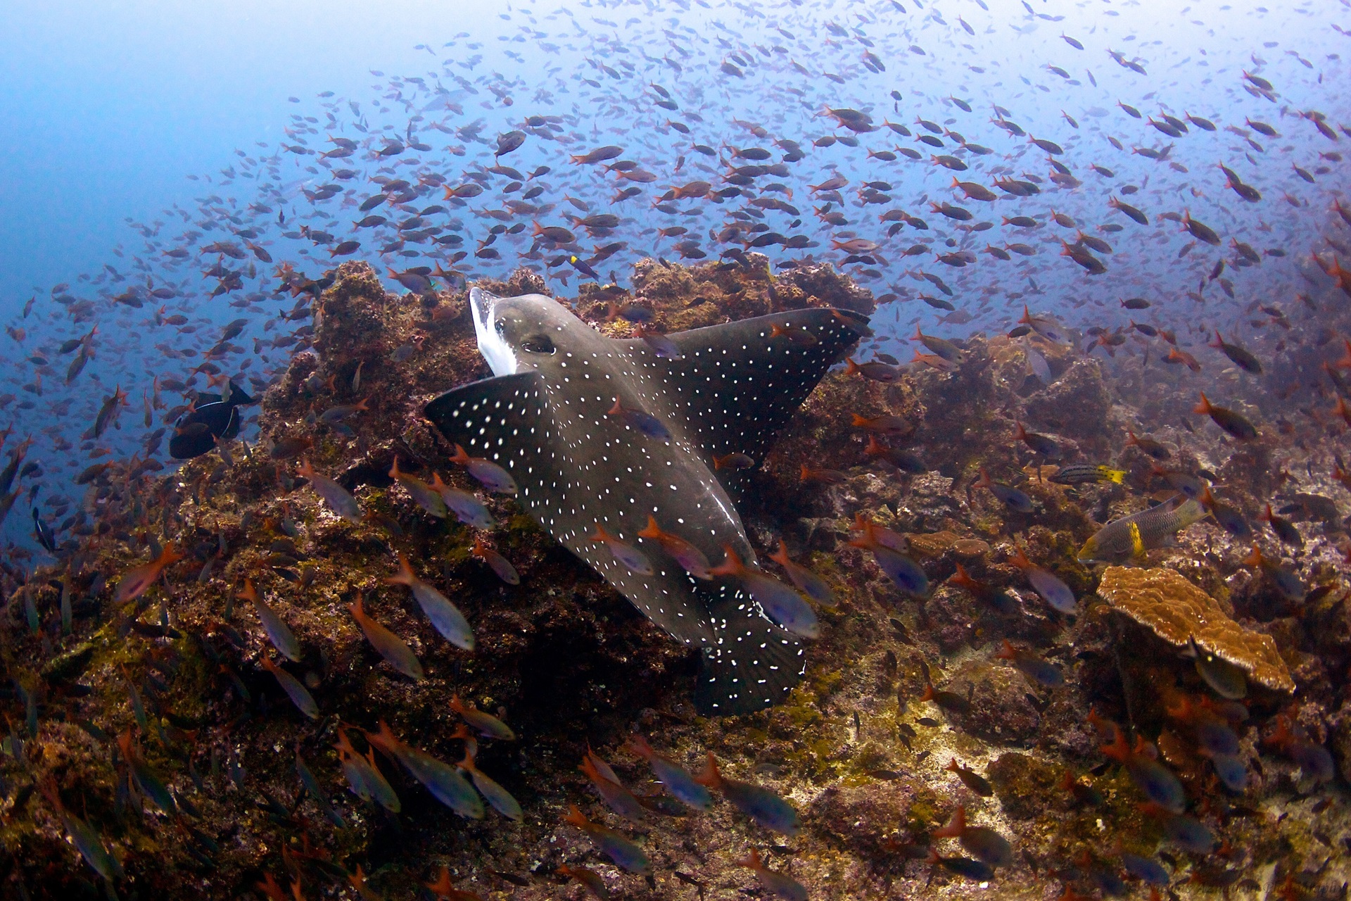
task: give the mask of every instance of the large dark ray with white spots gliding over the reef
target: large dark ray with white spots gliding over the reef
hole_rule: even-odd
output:
[[[784,700],[805,669],[801,644],[727,581],[689,575],[638,532],[648,516],[709,559],[755,552],[713,458],[761,459],[827,369],[866,334],[848,311],[797,309],[667,335],[677,353],[607,338],[543,294],[469,303],[494,376],[427,404],[427,419],[515,478],[517,500],[654,623],[703,651],[694,702],[705,715]],[[778,326],[775,330],[774,326]],[[616,403],[632,416],[611,415]],[[642,416],[646,415],[646,416]],[[661,423],[640,428],[642,421]],[[597,527],[651,561],[636,573],[592,540]]]

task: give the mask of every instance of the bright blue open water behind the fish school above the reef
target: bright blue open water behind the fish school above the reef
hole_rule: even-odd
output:
[[[345,258],[369,259],[382,276],[442,265],[467,280],[504,277],[528,265],[551,273],[550,286],[570,296],[584,276],[558,262],[562,257],[590,259],[598,247],[619,242],[619,250],[592,267],[601,281],[624,284],[643,257],[696,262],[744,247],[717,236],[740,217],[744,226],[765,224],[765,232],[809,242],[759,249],[774,266],[832,261],[875,294],[894,296],[877,316],[880,347],[902,359],[909,349],[888,339],[904,339],[916,321],[948,335],[998,332],[1028,304],[1081,328],[1116,328],[1128,324],[1119,300],[1136,296],[1152,307],[1129,316],[1177,330],[1179,344],[1196,355],[1206,353],[1201,344],[1208,327],[1275,353],[1270,332],[1255,332],[1247,320],[1269,315],[1258,311],[1271,304],[1296,319],[1308,315],[1297,294],[1328,286],[1310,250],[1335,250],[1323,235],[1351,244],[1331,209],[1346,181],[1344,162],[1323,155],[1351,147],[1337,130],[1351,120],[1337,86],[1347,80],[1339,55],[1346,36],[1332,27],[1340,24],[1339,15],[1351,24],[1347,14],[1344,5],[1331,4],[1277,11],[1254,3],[978,0],[467,8],[430,1],[57,3],[11,9],[9,38],[0,47],[0,132],[8,136],[0,143],[0,316],[11,328],[4,340],[12,362],[0,386],[0,424],[14,430],[7,448],[32,438],[30,459],[42,466],[18,486],[28,492],[41,485],[46,504],[78,498],[84,489],[70,484],[72,475],[93,462],[143,451],[150,431],[143,398],[153,380],[188,381],[200,353],[231,320],[243,320],[234,339],[240,350],[219,365],[250,390],[261,390],[286,362],[284,349],[261,342],[303,324],[277,320],[295,303],[274,294],[282,263],[311,277]],[[1255,85],[1266,82],[1271,91],[1262,96]],[[875,130],[858,134],[857,147],[815,147],[820,138],[855,136],[824,115],[827,108],[863,111]],[[1309,111],[1325,115],[1336,139],[1300,115]],[[1147,123],[1161,113],[1204,116],[1217,130],[1192,126],[1167,136]],[[526,124],[528,116],[554,119],[539,128]],[[1001,116],[1028,136],[993,122]],[[917,140],[929,134],[917,119],[939,126],[932,136],[942,149]],[[1278,136],[1260,134],[1248,119],[1269,123]],[[904,124],[911,136],[884,120]],[[530,132],[526,143],[499,162],[523,176],[540,166],[551,172],[503,193],[516,178],[482,170],[494,163],[497,135],[519,128]],[[962,149],[951,132],[992,153]],[[355,140],[359,149],[320,161],[319,154],[336,149],[330,138]],[[396,138],[428,149],[374,157]],[[1059,145],[1063,153],[1054,159],[1081,184],[1056,188],[1048,181],[1048,154],[1029,138]],[[731,186],[724,180],[731,149],[769,150],[763,165],[773,165],[785,153],[775,142],[784,140],[802,149],[800,161],[785,163],[788,174],[757,176],[742,196],[723,203],[676,200],[658,208],[673,185],[704,180],[713,190]],[[715,155],[701,154],[696,143]],[[621,146],[620,159],[654,178],[631,182],[600,165],[569,162],[569,154],[605,145]],[[897,147],[913,149],[920,158],[867,155]],[[1133,147],[1171,150],[1154,161]],[[935,165],[936,154],[955,155],[970,168],[954,173]],[[1219,162],[1260,200],[1247,203],[1227,188]],[[1094,163],[1112,174],[1094,172]],[[336,177],[338,169],[350,169],[350,177]],[[443,199],[440,180],[465,185],[474,173],[484,193],[462,203]],[[835,174],[847,180],[843,205],[827,208],[809,185]],[[1039,195],[1012,197],[994,188],[1000,176],[1025,174],[1040,180]],[[954,176],[993,189],[1000,200],[963,200],[951,188]],[[392,224],[354,231],[353,223],[366,215],[357,205],[380,193],[373,177],[428,185],[397,212],[384,203],[373,215],[407,222],[443,207],[405,228],[415,238],[427,228],[439,231],[405,239],[388,253],[381,250],[396,239]],[[863,203],[863,182],[878,182],[871,197],[886,200]],[[307,196],[323,185],[336,185],[338,193]],[[540,195],[524,201],[531,208],[511,212],[505,201],[536,185]],[[636,196],[616,201],[630,186]],[[1123,192],[1132,186],[1135,193]],[[1113,196],[1146,211],[1150,224],[1112,211]],[[615,212],[623,220],[588,235],[565,217],[588,212],[566,197],[582,201],[590,213]],[[754,200],[782,201],[798,215]],[[950,220],[931,209],[931,203],[944,201],[969,209],[973,219]],[[880,216],[892,209],[923,219],[928,228],[912,222],[889,235],[892,223]],[[494,217],[496,211],[508,212]],[[1055,224],[1052,211],[1077,224]],[[832,212],[847,223],[821,219]],[[1220,246],[1196,243],[1178,222],[1161,217],[1185,212],[1217,232]],[[1002,224],[1004,216],[1032,216],[1039,227],[1019,230]],[[793,226],[794,219],[801,222]],[[532,220],[567,227],[577,243],[534,244]],[[993,227],[970,231],[981,222]],[[480,255],[492,227],[517,224],[523,231],[488,244],[496,257]],[[655,231],[681,226],[688,234]],[[308,240],[301,227],[328,232],[332,240]],[[1079,230],[1111,244],[1111,251],[1093,251],[1105,273],[1089,276],[1061,255],[1059,239],[1074,242]],[[273,262],[246,247],[240,231],[253,234],[247,240]],[[755,234],[763,232],[744,240]],[[359,239],[361,247],[331,257],[347,239]],[[831,239],[878,247],[858,254],[871,262],[844,263],[846,253],[832,250]],[[682,250],[681,240],[690,244]],[[1250,246],[1260,265],[1235,269],[1242,257],[1232,240]],[[245,258],[201,253],[215,242],[239,246]],[[1036,255],[1015,253],[1000,261],[985,251],[986,244],[1008,243],[1025,243]],[[927,250],[905,255],[916,244]],[[1194,247],[1185,251],[1188,244]],[[186,258],[166,257],[174,249],[186,250]],[[938,253],[963,250],[974,254],[970,265],[936,259]],[[454,261],[457,251],[467,255]],[[1224,272],[1209,278],[1221,259]],[[211,299],[219,280],[201,273],[218,262],[238,273],[239,286]],[[938,276],[951,293],[924,281],[921,272]],[[394,281],[388,284],[397,289]],[[118,296],[131,304],[113,300]],[[946,300],[955,315],[921,296]],[[173,316],[182,316],[184,324],[165,323]],[[62,354],[59,344],[96,324],[97,334],[84,344],[91,358],[68,384],[70,362],[85,351]],[[203,377],[189,384],[207,388]],[[127,392],[130,407],[120,411],[116,427],[82,440],[113,388]],[[172,426],[166,411],[180,405],[172,392],[162,394],[163,408],[151,411],[153,427]],[[162,448],[158,455],[168,462]],[[24,508],[16,504],[5,523],[14,540],[27,540],[31,520]]]

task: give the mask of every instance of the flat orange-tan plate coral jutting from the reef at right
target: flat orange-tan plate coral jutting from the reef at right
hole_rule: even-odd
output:
[[[1243,669],[1254,682],[1293,692],[1294,679],[1270,635],[1246,629],[1219,602],[1170,569],[1109,566],[1098,594],[1136,623],[1175,647],[1189,639]]]

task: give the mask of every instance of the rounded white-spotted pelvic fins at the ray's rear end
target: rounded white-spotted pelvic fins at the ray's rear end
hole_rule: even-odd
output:
[[[713,640],[704,646],[694,706],[704,716],[753,713],[784,701],[802,678],[802,646],[770,623],[743,592],[719,590],[708,604]]]

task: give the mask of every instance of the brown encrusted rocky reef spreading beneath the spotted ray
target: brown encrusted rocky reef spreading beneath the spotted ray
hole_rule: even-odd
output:
[[[805,305],[873,308],[828,266],[771,277],[763,258],[750,261],[647,261],[631,290],[585,285],[573,305],[616,336],[631,334],[613,315],[627,304],[647,307],[663,331]],[[482,286],[543,290],[527,270]],[[389,294],[369,267],[343,263],[315,299],[311,346],[262,397],[255,443],[235,442],[172,474],[109,469],[93,486],[99,527],[80,550],[9,586],[5,892],[96,897],[100,877],[80,847],[81,835],[95,835],[130,898],[263,897],[265,879],[296,882],[304,897],[357,897],[358,867],[365,890],[384,897],[413,897],[442,867],[484,898],[582,897],[563,865],[597,871],[612,897],[731,897],[757,892],[751,871],[736,866],[750,847],[813,898],[963,898],[984,894],[982,879],[925,862],[931,850],[950,862],[965,854],[955,839],[932,836],[961,804],[970,823],[1013,842],[1015,858],[994,875],[1001,897],[1050,897],[1058,882],[1086,893],[1094,867],[1117,867],[1121,850],[1155,855],[1161,842],[1156,856],[1179,897],[1216,897],[1233,883],[1256,893],[1288,878],[1336,896],[1351,875],[1347,798],[1342,786],[1310,779],[1296,751],[1297,742],[1329,742],[1346,778],[1344,590],[1281,604],[1242,565],[1246,548],[1210,524],[1155,551],[1148,569],[1098,575],[1082,566],[1075,548],[1131,507],[1132,492],[1150,489],[1138,451],[1121,446],[1124,428],[1146,413],[1105,367],[1043,343],[1050,385],[1027,374],[1005,336],[965,342],[951,373],[823,380],[746,474],[739,508],[762,559],[782,538],[840,604],[819,609],[821,638],[786,704],[708,720],[689,700],[694,657],[515,501],[480,492],[499,525],[473,530],[430,515],[390,478],[397,459],[422,480],[436,473],[477,490],[420,409],[488,370],[463,292]],[[929,471],[869,457],[854,413],[900,417],[904,431],[886,440]],[[1012,439],[1019,421],[1081,459],[1119,455],[1127,484],[1048,481],[1054,470]],[[1217,444],[1197,448],[1224,458]],[[1265,459],[1238,457],[1228,465]],[[355,494],[359,521],[334,515],[299,474],[301,459]],[[804,463],[842,478],[802,481]],[[973,488],[982,466],[1027,492],[1034,512]],[[1225,481],[1244,484],[1238,473]],[[925,596],[902,592],[874,554],[848,543],[855,517],[904,536],[929,581]],[[1323,521],[1336,535],[1337,523]],[[471,552],[476,539],[512,563],[519,585]],[[119,578],[169,540],[186,558],[139,597],[119,600]],[[1073,613],[1043,602],[1013,563],[1019,548],[1066,582],[1078,598]],[[463,611],[473,652],[438,635],[407,588],[388,584],[396,554]],[[1320,536],[1298,555],[1298,574],[1333,585],[1337,558],[1333,539]],[[988,590],[948,582],[958,565]],[[262,604],[240,600],[246,584]],[[376,651],[349,612],[358,598],[407,643],[424,678],[401,675]],[[263,605],[293,634],[299,659],[278,654]],[[1178,696],[1205,690],[1177,654],[1189,636],[1271,689],[1233,725],[1248,775],[1242,793],[1216,783],[1186,724],[1170,719]],[[996,657],[1005,640],[1008,659]],[[263,661],[312,693],[316,719]],[[520,821],[492,810],[457,816],[363,736],[385,721],[408,746],[454,763],[465,743],[453,696],[515,731],[513,742],[484,739],[476,765],[520,802]],[[1108,739],[1090,712],[1158,742],[1189,816],[1223,839],[1220,851],[1167,843],[1169,823],[1142,813],[1146,796],[1128,767],[1100,752]],[[1282,723],[1300,738],[1285,738]],[[355,758],[335,754],[339,729],[357,758],[370,751],[365,759],[389,779],[400,812],[353,793],[345,765]],[[634,732],[690,771],[711,751],[724,777],[794,805],[801,832],[770,833],[721,801],[709,813],[673,808],[647,766],[621,750]],[[632,786],[647,808],[642,823],[594,800],[577,771],[588,747]],[[653,875],[612,866],[566,825],[574,804],[636,836]]]

